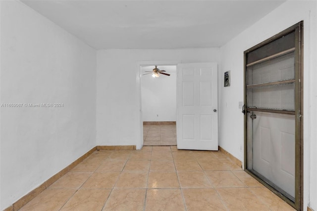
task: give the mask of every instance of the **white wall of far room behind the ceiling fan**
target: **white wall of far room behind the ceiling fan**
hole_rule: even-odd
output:
[[[141,98],[143,121],[176,121],[176,66],[158,66],[170,76],[162,75],[153,78],[155,66],[141,67]]]

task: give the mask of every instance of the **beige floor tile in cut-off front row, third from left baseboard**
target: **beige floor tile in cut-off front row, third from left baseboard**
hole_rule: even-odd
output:
[[[146,189],[112,190],[103,211],[143,211]]]

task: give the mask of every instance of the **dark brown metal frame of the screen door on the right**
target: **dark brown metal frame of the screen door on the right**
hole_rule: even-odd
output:
[[[275,190],[272,186],[264,182],[264,180],[260,179],[258,176],[253,174],[251,171],[248,170],[248,149],[247,149],[247,99],[246,99],[246,54],[268,44],[278,38],[283,37],[284,35],[295,31],[295,202],[292,202],[280,192]],[[304,133],[303,133],[303,53],[304,53],[304,43],[303,43],[303,21],[283,30],[282,32],[274,35],[271,38],[263,41],[262,43],[248,49],[244,52],[244,105],[245,115],[244,115],[244,170],[261,182],[265,187],[269,190],[274,192],[277,196],[287,202],[289,205],[294,207],[298,211],[303,210],[303,188],[304,188],[304,181],[303,181],[303,169],[304,169]]]

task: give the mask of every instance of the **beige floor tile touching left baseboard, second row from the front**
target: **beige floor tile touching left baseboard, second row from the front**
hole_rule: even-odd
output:
[[[70,171],[54,182],[49,188],[79,188],[91,174],[92,172]]]

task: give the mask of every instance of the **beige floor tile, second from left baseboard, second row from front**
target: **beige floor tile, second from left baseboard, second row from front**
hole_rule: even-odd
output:
[[[95,172],[89,177],[81,188],[84,189],[105,189],[113,188],[118,180],[120,172]]]

